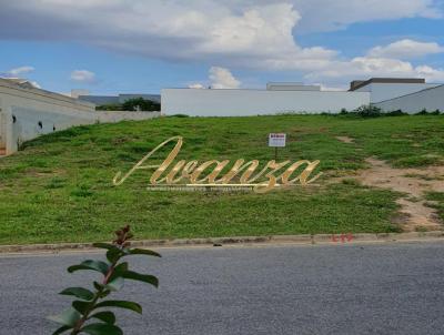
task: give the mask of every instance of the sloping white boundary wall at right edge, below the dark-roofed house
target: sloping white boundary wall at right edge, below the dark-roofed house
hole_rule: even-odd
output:
[[[428,112],[435,110],[444,112],[444,85],[386,100],[375,103],[375,105],[386,112],[402,110],[405,113],[414,114],[423,109],[426,109]]]

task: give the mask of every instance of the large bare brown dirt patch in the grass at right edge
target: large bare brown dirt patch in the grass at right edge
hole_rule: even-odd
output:
[[[371,169],[361,171],[356,179],[364,185],[390,189],[405,195],[397,200],[400,216],[395,219],[405,231],[441,230],[443,222],[424,200],[426,192],[444,192],[444,166],[424,169],[393,169],[384,161],[367,159]]]

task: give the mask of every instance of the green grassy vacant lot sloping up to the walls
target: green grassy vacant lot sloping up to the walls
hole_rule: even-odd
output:
[[[321,160],[321,186],[268,194],[149,192],[151,171],[111,184],[118,171],[173,135],[184,136],[180,156],[186,160],[265,163],[273,159],[269,132],[289,135],[280,160]],[[162,118],[74,128],[0,160],[0,244],[109,240],[123,223],[139,238],[396,231],[390,219],[397,194],[330,183],[365,168],[372,155],[394,166],[443,162],[444,115]]]

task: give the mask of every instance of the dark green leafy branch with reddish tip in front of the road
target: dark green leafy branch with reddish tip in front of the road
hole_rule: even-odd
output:
[[[108,262],[84,261],[80,264],[68,267],[69,273],[77,271],[95,271],[102,274],[101,282],[93,282],[94,290],[83,287],[69,287],[60,292],[62,295],[70,295],[78,300],[72,302],[72,307],[59,315],[48,317],[61,325],[52,335],[70,331],[71,335],[120,335],[122,329],[115,325],[113,312],[104,311],[105,307],[119,307],[142,314],[142,307],[130,301],[104,300],[112,292],[123,287],[124,280],[140,281],[155,287],[159,281],[155,276],[140,274],[129,270],[128,262],[120,262],[121,258],[130,255],[147,255],[160,257],[160,254],[143,248],[131,248],[129,240],[132,237],[130,226],[115,232],[117,238],[110,243],[94,243],[93,246],[107,250]]]

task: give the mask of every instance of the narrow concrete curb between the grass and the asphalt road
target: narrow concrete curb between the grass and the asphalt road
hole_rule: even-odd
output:
[[[408,233],[357,233],[357,234],[315,234],[315,235],[272,235],[239,236],[178,240],[132,241],[138,247],[180,247],[180,246],[223,246],[233,244],[346,244],[356,242],[396,242],[396,241],[444,240],[444,231],[408,232]],[[62,251],[92,250],[92,243],[54,243],[0,245],[0,254],[7,253],[58,253]]]

